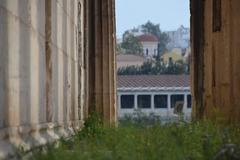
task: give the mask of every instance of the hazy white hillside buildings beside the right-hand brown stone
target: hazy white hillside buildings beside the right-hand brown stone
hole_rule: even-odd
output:
[[[167,45],[168,49],[172,48],[189,48],[190,46],[190,29],[184,26],[179,27],[176,31],[166,32],[170,38]]]

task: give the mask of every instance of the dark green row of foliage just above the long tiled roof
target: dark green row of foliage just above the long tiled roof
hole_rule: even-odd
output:
[[[168,65],[161,61],[145,62],[142,66],[128,66],[119,68],[118,75],[161,75],[161,74],[189,74],[188,64],[182,61],[171,62]]]

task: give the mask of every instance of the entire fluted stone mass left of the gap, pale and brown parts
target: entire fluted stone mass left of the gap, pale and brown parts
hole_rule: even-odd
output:
[[[0,0],[0,159],[116,122],[114,0]],[[11,142],[11,143],[10,143]]]

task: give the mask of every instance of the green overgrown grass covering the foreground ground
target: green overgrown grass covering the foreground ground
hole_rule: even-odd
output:
[[[139,119],[138,119],[139,120]],[[144,121],[146,122],[146,121]],[[97,116],[70,140],[36,151],[34,160],[238,160],[240,128],[212,122],[160,124],[125,120],[103,127]],[[149,122],[149,121],[148,121]]]

